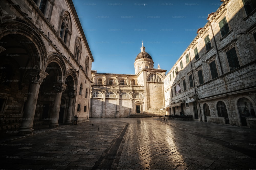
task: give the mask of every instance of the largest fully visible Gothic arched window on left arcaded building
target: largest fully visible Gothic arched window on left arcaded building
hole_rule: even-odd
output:
[[[59,29],[59,35],[64,43],[69,47],[70,36],[72,35],[70,15],[67,11],[62,12],[62,14],[62,17],[60,18],[61,27]]]

